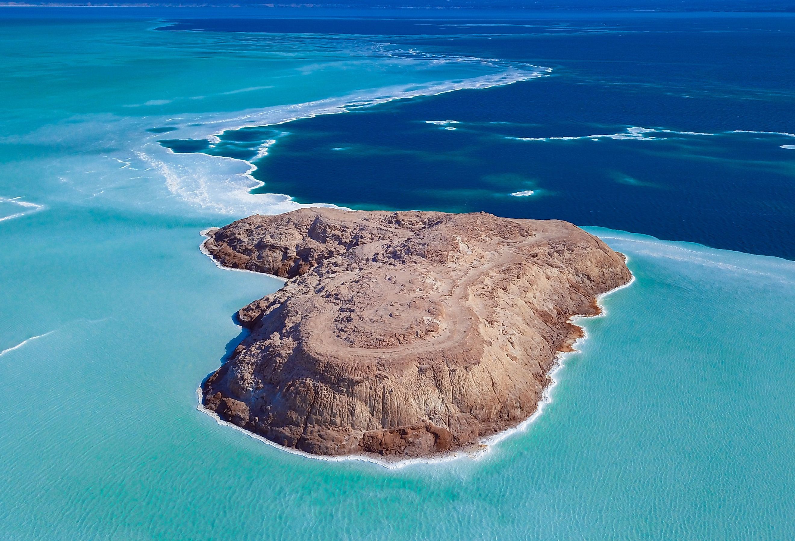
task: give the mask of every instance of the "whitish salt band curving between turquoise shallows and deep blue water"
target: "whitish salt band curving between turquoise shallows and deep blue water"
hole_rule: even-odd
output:
[[[326,99],[242,111],[145,117],[90,115],[81,123],[69,123],[68,126],[54,123],[24,135],[0,139],[62,144],[64,129],[68,127],[68,141],[76,150],[84,150],[83,146],[92,148],[99,141],[103,142],[103,149],[118,149],[103,150],[101,159],[92,159],[94,154],[81,152],[68,154],[63,158],[59,167],[64,172],[54,176],[80,200],[102,198],[108,203],[113,201],[113,204],[130,204],[166,212],[173,212],[176,204],[180,207],[180,212],[184,212],[184,207],[187,206],[196,212],[213,212],[235,217],[276,214],[301,207],[334,205],[312,202],[298,204],[285,194],[251,193],[253,189],[263,186],[261,181],[251,176],[255,170],[251,162],[267,159],[270,141],[258,148],[256,157],[245,161],[202,153],[175,154],[157,143],[157,139],[163,137],[162,134],[153,134],[147,130],[151,126],[168,125],[174,128],[169,132],[169,138],[206,139],[211,144],[218,144],[219,134],[227,130],[275,126],[316,115],[344,113],[394,99],[439,95],[463,88],[490,88],[513,84],[546,76],[551,71],[549,68],[504,60],[417,52],[406,54],[406,58],[430,62],[432,66],[449,64],[450,67],[458,69],[460,64],[467,63],[472,64],[473,68],[482,66],[489,72],[485,75],[473,73],[474,76],[435,79],[424,83],[387,84]],[[144,102],[142,100],[139,107],[143,107]],[[91,173],[87,173],[88,171]]]

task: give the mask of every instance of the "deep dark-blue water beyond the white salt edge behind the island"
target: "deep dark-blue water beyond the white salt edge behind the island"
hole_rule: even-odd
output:
[[[389,33],[424,52],[553,68],[505,87],[228,131],[214,146],[164,142],[252,159],[276,138],[256,162],[260,193],[351,208],[559,218],[795,259],[795,150],[781,148],[795,144],[790,15],[223,19],[165,28]],[[458,123],[427,122],[444,120]],[[631,135],[638,127],[653,131]],[[588,137],[595,135],[612,137]],[[520,139],[560,137],[576,139]],[[533,195],[510,195],[526,190]]]

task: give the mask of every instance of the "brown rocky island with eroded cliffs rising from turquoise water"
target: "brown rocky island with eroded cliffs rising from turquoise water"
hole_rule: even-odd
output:
[[[204,383],[221,418],[308,453],[467,449],[536,410],[568,320],[631,278],[556,220],[307,208],[208,233],[227,267],[289,278]]]

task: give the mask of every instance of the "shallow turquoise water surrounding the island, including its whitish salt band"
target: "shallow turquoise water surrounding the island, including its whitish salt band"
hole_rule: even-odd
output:
[[[637,279],[584,322],[543,415],[479,460],[315,461],[196,410],[240,333],[232,314],[279,285],[215,267],[199,232],[293,203],[250,195],[242,162],[169,154],[146,130],[190,138],[285,118],[285,103],[529,68],[396,59],[363,38],[2,24],[0,219],[22,215],[0,221],[2,539],[791,537],[784,259],[593,229]]]

